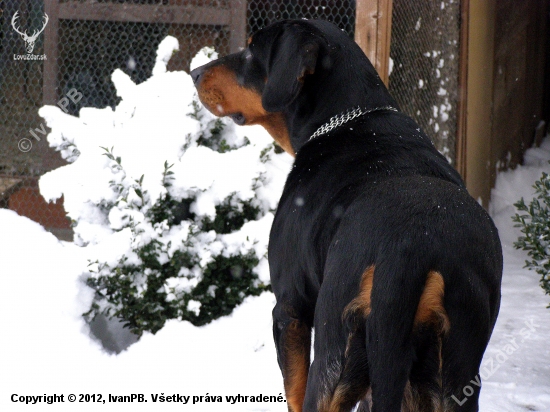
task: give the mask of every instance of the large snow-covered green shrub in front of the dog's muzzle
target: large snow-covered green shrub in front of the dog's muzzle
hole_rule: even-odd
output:
[[[259,127],[217,119],[159,46],[153,75],[122,71],[112,110],[72,117],[41,109],[50,145],[70,164],[44,175],[43,196],[64,196],[96,298],[86,314],[120,318],[134,333],[166,320],[203,325],[269,289],[267,240],[290,157]],[[215,57],[203,49],[193,65]]]

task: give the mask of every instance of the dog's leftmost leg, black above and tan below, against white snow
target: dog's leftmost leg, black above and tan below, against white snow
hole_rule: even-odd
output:
[[[310,365],[311,326],[279,302],[273,309],[273,337],[289,412],[302,412]]]

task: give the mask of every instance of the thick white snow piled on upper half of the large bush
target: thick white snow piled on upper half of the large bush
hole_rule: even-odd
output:
[[[173,37],[167,39],[177,42]],[[166,46],[165,43],[166,39],[160,47]],[[172,48],[169,54],[171,51]],[[116,179],[117,173],[102,147],[113,148],[115,156],[121,157],[127,178],[137,180],[145,176],[143,187],[152,202],[164,192],[163,165],[168,161],[174,164],[174,194],[204,191],[197,207],[207,214],[212,215],[214,201],[228,193],[252,197],[250,182],[258,172],[270,172],[262,194],[270,208],[277,204],[290,164],[288,156],[272,156],[271,162],[262,163],[260,153],[272,142],[267,132],[259,126],[235,126],[226,119],[220,120],[226,131],[224,137],[232,139],[228,144],[244,145],[248,139],[249,145],[223,154],[198,146],[201,130],[215,118],[202,107],[200,120],[193,116],[193,104],[198,104],[198,100],[191,77],[185,72],[166,72],[165,67],[164,71],[159,70],[159,61],[165,61],[166,53],[158,54],[153,76],[139,85],[119,69],[113,73],[113,83],[122,99],[115,110],[82,108],[79,118],[56,106],[45,106],[39,111],[52,129],[48,135],[50,146],[71,162],[46,173],[40,179],[40,191],[48,201],[64,195],[65,209],[76,221],[77,234],[83,236],[82,244],[97,243],[105,235],[100,229],[87,233],[78,230],[82,221],[105,226],[105,222],[94,218],[89,204],[116,198],[109,182]],[[203,49],[193,63],[207,62],[208,55],[216,57]]]

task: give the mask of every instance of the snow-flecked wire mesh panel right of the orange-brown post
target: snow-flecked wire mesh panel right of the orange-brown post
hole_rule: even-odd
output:
[[[460,0],[393,0],[390,92],[454,164]]]

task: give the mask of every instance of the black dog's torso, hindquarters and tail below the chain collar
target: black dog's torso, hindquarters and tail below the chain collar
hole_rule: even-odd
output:
[[[304,410],[351,410],[369,388],[374,410],[477,410],[478,388],[462,408],[453,399],[479,378],[500,301],[500,242],[407,122],[394,112],[350,122],[305,145],[288,177],[269,258],[275,320],[292,307],[315,327],[309,374],[319,378],[308,380]]]

